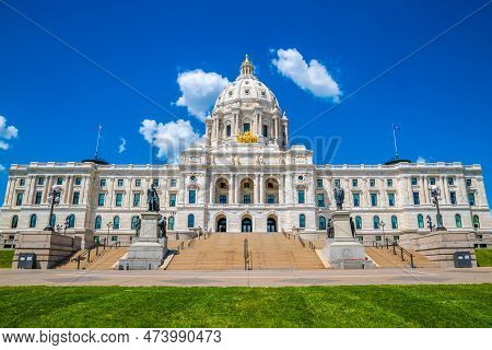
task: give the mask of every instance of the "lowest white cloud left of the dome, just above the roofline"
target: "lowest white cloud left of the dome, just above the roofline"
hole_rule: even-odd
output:
[[[177,163],[179,154],[192,143],[202,142],[191,124],[183,119],[166,124],[145,119],[140,133],[147,142],[157,148],[157,158],[165,158],[169,163]]]

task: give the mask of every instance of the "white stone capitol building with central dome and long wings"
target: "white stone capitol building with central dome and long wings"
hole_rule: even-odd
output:
[[[7,245],[17,232],[39,231],[51,221],[66,225],[67,233],[89,232],[129,245],[154,185],[169,238],[200,231],[324,236],[338,184],[356,237],[367,244],[384,235],[429,233],[427,217],[436,224],[430,186],[441,190],[448,232],[475,232],[480,240],[492,231],[480,165],[314,164],[313,151],[290,143],[288,116],[246,58],[206,119],[204,143],[184,151],[178,164],[12,164],[0,233]],[[49,218],[54,185],[61,188],[60,203]]]

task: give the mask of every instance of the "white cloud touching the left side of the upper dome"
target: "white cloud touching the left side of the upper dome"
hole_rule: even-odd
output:
[[[181,96],[176,101],[176,105],[186,107],[190,115],[203,121],[207,110],[213,106],[221,91],[229,84],[229,80],[215,72],[196,69],[179,73],[177,83]]]

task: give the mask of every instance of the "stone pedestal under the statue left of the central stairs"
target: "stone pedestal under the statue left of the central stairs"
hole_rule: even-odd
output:
[[[155,270],[167,254],[167,238],[160,238],[156,212],[141,214],[140,236],[133,240],[126,258],[118,261],[120,270]]]

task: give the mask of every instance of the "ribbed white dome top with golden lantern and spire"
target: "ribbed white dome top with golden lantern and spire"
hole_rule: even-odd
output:
[[[215,108],[235,103],[257,103],[268,109],[279,109],[276,95],[255,75],[255,67],[246,55],[241,65],[241,74],[221,92],[215,101]]]

